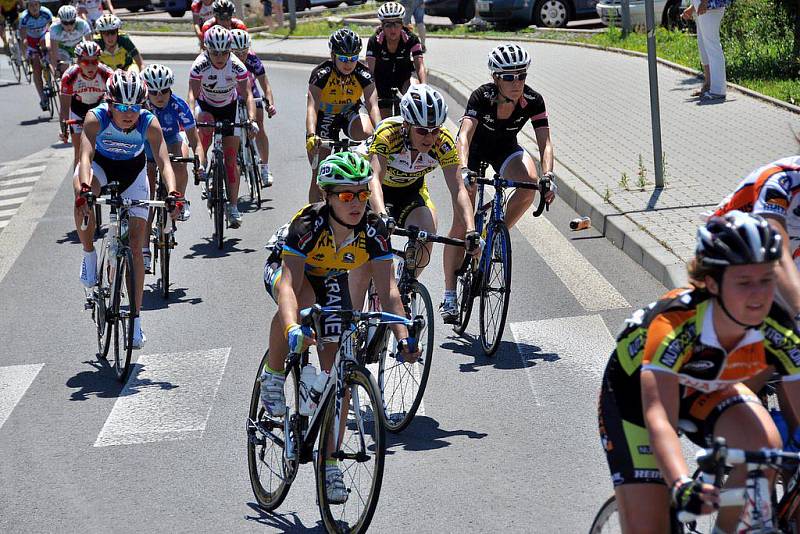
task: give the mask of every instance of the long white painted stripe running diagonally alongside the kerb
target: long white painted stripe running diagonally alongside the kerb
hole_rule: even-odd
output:
[[[630,306],[619,291],[544,217],[522,217],[516,225],[586,311]]]

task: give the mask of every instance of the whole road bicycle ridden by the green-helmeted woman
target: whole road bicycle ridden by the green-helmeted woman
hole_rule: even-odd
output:
[[[259,376],[269,350],[259,363],[247,418],[247,463],[258,505],[275,510],[286,498],[300,464],[313,462],[317,504],[328,532],[362,533],[375,513],[383,480],[386,454],[385,421],[375,378],[364,366],[368,321],[404,324],[414,331],[418,321],[383,312],[360,312],[314,305],[301,312],[302,322],[321,332],[324,317],[338,317],[348,325],[339,340],[330,377],[316,410],[301,415],[300,382],[309,351],[286,358],[286,412],[270,416],[260,401]],[[314,450],[314,443],[317,448]],[[326,459],[335,459],[345,476],[347,501],[328,498]]]

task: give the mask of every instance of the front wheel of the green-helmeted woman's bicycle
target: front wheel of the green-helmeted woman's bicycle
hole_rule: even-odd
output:
[[[336,407],[340,403],[329,395],[324,407],[316,461],[317,502],[328,532],[362,533],[372,521],[383,481],[384,421],[376,411],[381,405],[380,392],[369,371],[353,364],[345,376],[344,387],[339,414],[343,424],[338,436]],[[328,458],[335,458],[344,474],[348,498],[342,504],[328,498]]]

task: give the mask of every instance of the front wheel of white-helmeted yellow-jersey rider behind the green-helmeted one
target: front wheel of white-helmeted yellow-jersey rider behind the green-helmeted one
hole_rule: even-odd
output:
[[[380,358],[378,385],[383,395],[383,411],[386,414],[386,430],[397,433],[405,429],[414,419],[433,358],[433,303],[428,289],[419,281],[411,286],[411,317],[421,315],[425,328],[417,333],[422,354],[414,363],[406,363],[397,358],[397,339],[389,331],[386,350]]]

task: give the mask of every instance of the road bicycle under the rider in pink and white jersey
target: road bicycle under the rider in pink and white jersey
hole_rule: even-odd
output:
[[[222,132],[231,128],[247,128],[247,122],[198,122],[198,128],[213,128],[214,142],[206,161],[206,201],[209,215],[214,223],[214,242],[219,250],[225,245],[225,207],[230,194],[228,173],[225,170],[225,156],[222,151]],[[231,202],[236,202],[233,199]]]

